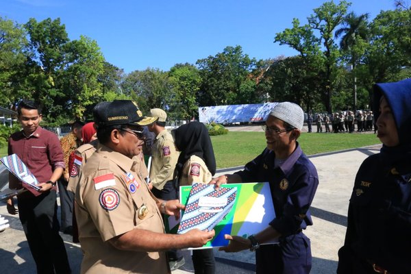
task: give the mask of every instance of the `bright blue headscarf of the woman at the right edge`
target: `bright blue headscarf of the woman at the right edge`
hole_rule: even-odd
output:
[[[382,146],[381,156],[384,162],[394,163],[411,161],[411,79],[399,82],[375,84],[373,96],[374,119],[377,121],[379,99],[384,96],[397,126],[399,145],[396,147]]]

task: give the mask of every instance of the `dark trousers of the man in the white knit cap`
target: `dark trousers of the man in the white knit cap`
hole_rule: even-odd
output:
[[[256,251],[257,274],[310,273],[310,239],[302,232],[279,238],[279,245],[262,245]]]

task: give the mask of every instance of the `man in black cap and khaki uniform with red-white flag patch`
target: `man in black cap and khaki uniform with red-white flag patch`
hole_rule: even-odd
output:
[[[161,213],[177,215],[184,206],[153,197],[133,160],[144,142],[141,126],[152,121],[128,100],[95,112],[100,145],[75,191],[82,273],[170,273],[164,250],[201,247],[214,236],[198,229],[164,234]]]

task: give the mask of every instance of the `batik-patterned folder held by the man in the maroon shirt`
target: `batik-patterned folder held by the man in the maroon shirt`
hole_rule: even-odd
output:
[[[37,191],[40,190],[40,187],[37,186],[38,180],[16,154],[0,158],[0,162],[2,162],[5,167],[23,183],[22,185],[24,188],[27,188],[27,190],[36,196],[41,194]]]

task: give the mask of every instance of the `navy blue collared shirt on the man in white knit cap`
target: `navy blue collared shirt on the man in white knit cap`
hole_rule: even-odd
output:
[[[274,151],[264,149],[236,174],[242,182],[269,182],[276,214],[270,225],[282,236],[312,225],[309,208],[319,185],[319,175],[298,142],[295,151],[278,167],[275,167]]]

